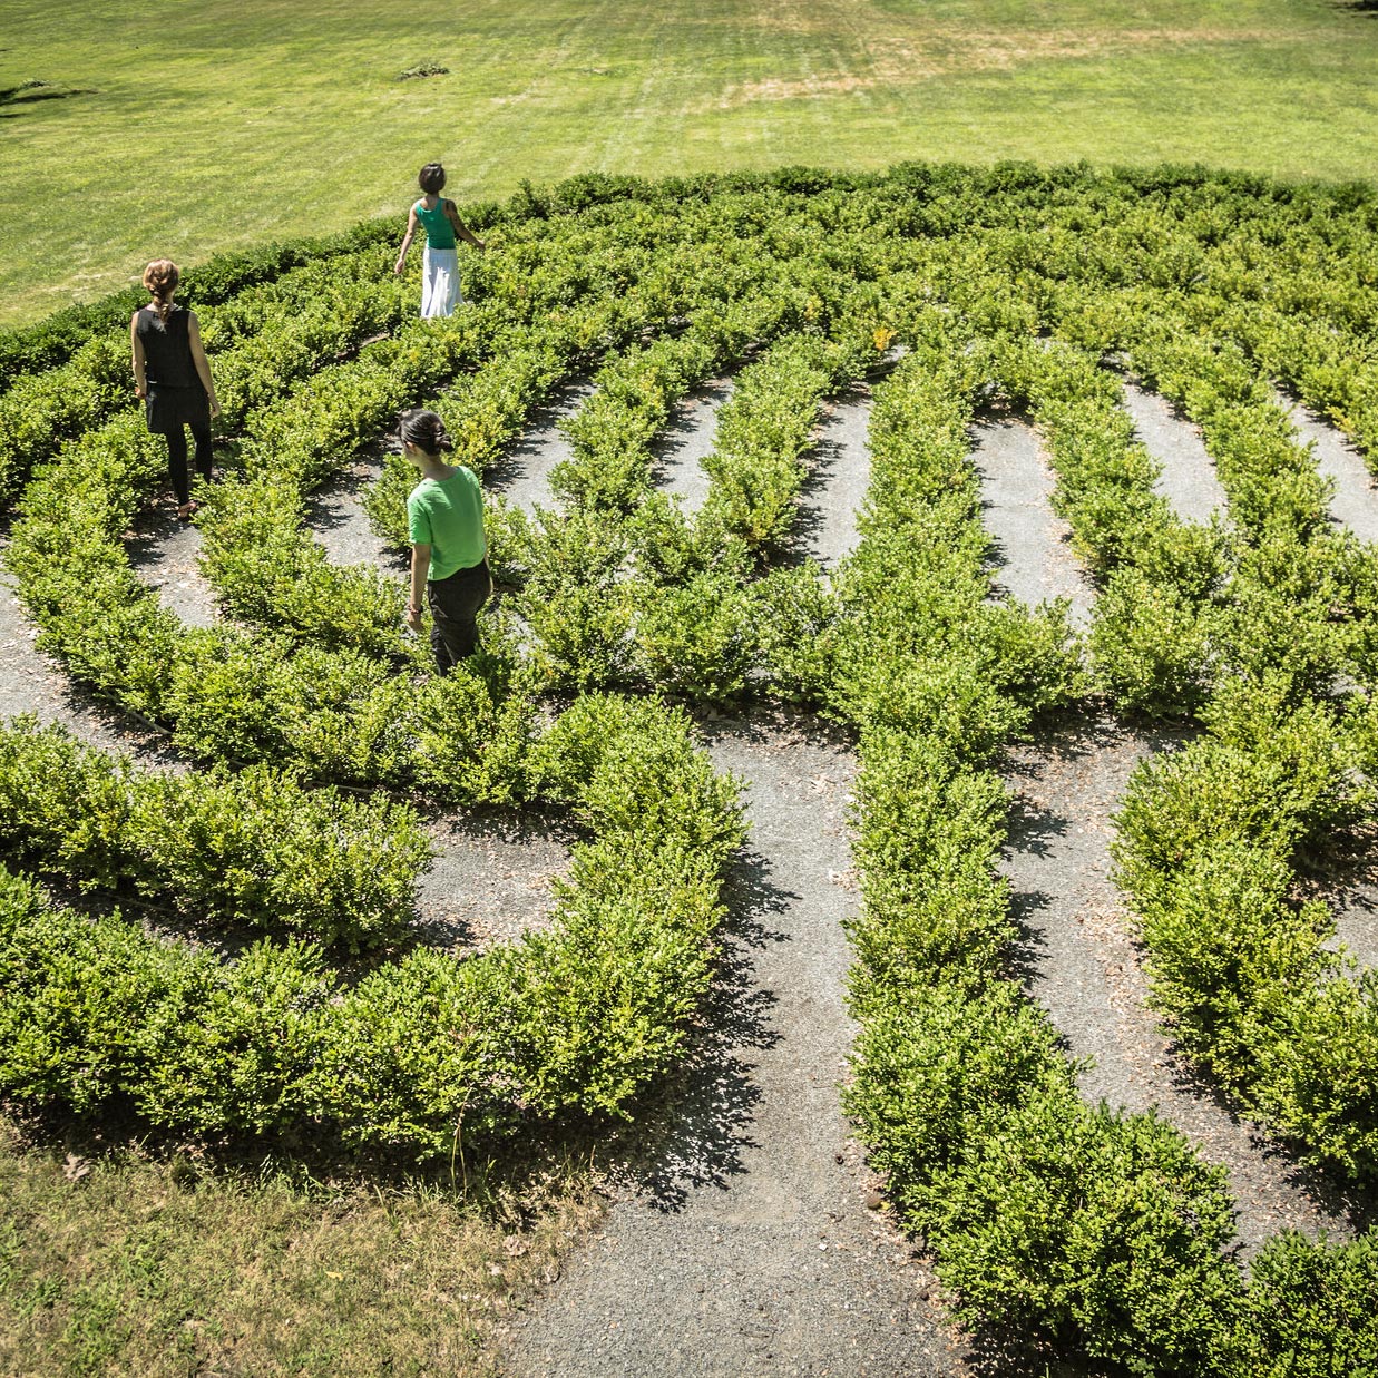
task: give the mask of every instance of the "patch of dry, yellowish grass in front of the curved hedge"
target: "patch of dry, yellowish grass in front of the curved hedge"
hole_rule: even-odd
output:
[[[568,1164],[434,1182],[292,1180],[0,1119],[0,1372],[372,1378],[495,1372],[495,1324],[598,1214]]]

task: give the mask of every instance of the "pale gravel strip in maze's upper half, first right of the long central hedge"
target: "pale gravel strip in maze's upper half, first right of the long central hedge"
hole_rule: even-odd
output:
[[[1021,422],[987,420],[973,429],[971,463],[1000,566],[996,587],[1029,606],[1068,598],[1072,626],[1086,627],[1091,586],[1072,554],[1067,522],[1053,514],[1056,478],[1038,434]]]

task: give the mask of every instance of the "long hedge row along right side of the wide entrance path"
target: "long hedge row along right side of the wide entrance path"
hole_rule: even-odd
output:
[[[1372,1237],[1284,1233],[1246,1291],[1225,1253],[1222,1170],[1151,1115],[1082,1102],[1046,1017],[1003,973],[1013,929],[994,872],[1007,803],[984,762],[1073,682],[1049,661],[1035,675],[1018,657],[992,657],[995,674],[963,664],[978,639],[967,616],[988,615],[966,427],[994,365],[941,318],[914,333],[876,390],[867,528],[843,572],[856,645],[842,661],[875,663],[841,700],[863,750],[847,1107],[967,1320],[1145,1372],[1242,1375],[1259,1355],[1279,1361],[1283,1339],[1282,1371],[1371,1360]],[[956,570],[954,548],[970,551]],[[894,584],[909,587],[882,598]],[[947,616],[915,634],[911,609],[925,608]],[[1331,1279],[1349,1290],[1322,1299]],[[1306,1326],[1317,1305],[1333,1305],[1331,1328]]]

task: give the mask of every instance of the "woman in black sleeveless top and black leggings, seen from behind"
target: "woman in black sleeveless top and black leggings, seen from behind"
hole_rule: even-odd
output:
[[[167,435],[168,477],[176,493],[178,517],[196,511],[186,474],[186,430],[196,442],[196,467],[211,477],[211,418],[220,415],[211,382],[211,365],[201,349],[196,314],[172,305],[178,266],[171,259],[154,259],[143,270],[143,285],[153,305],[130,320],[130,347],[134,351],[134,387],[147,401],[152,435]]]

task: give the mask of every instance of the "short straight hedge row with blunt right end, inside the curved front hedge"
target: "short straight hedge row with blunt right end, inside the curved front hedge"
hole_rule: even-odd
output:
[[[269,766],[135,770],[29,717],[0,723],[0,856],[358,952],[402,938],[431,846],[405,805],[303,790]]]

